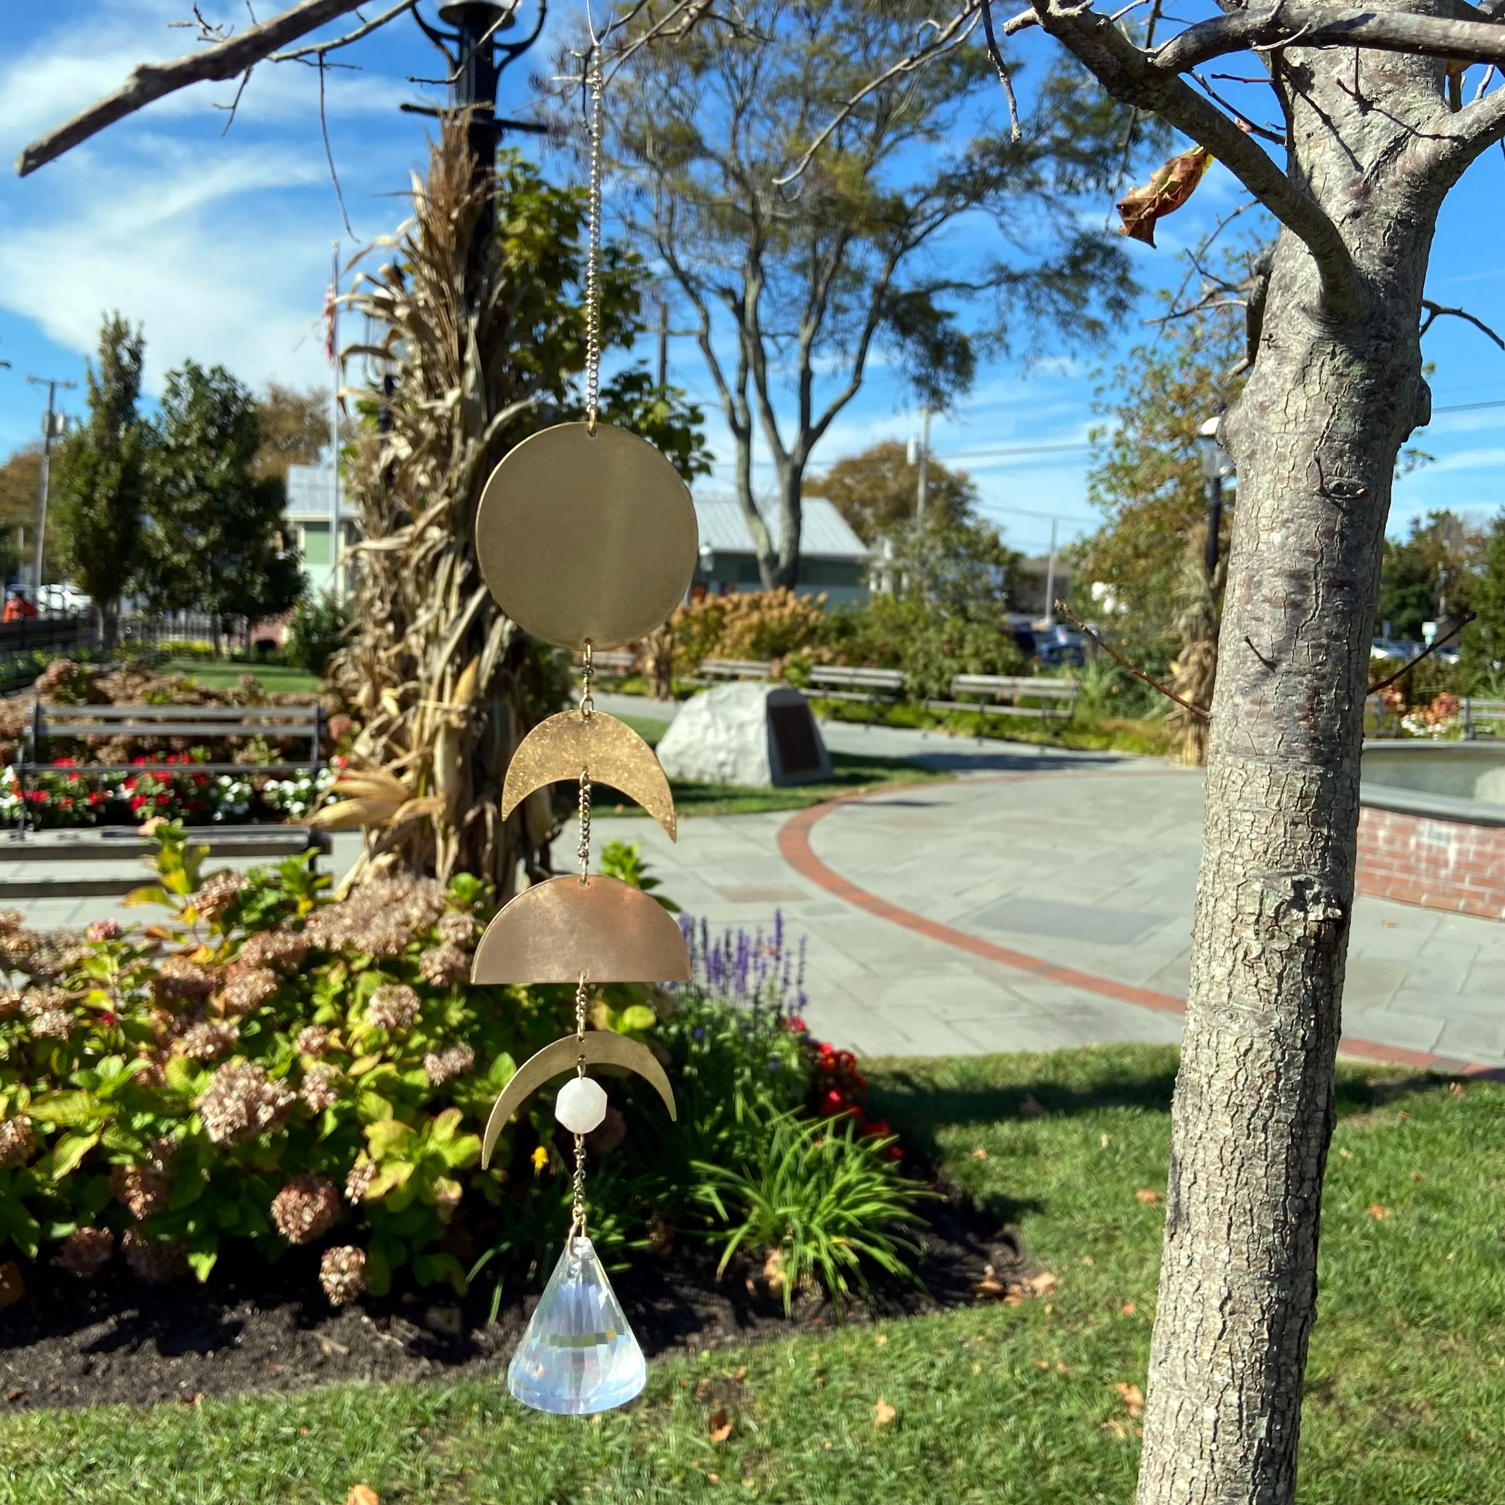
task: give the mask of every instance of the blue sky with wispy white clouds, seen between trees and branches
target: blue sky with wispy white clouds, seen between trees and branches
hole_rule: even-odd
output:
[[[187,51],[191,33],[169,23],[188,9],[187,0],[0,9],[0,158],[9,163],[42,129],[116,87],[135,62]],[[212,20],[244,15],[229,0],[203,9]],[[424,160],[426,122],[399,114],[397,104],[435,98],[406,77],[432,75],[438,54],[400,21],[346,56],[363,71],[328,75],[330,141],[351,220],[369,239],[400,218],[408,173]],[[542,48],[530,62],[546,68]],[[525,62],[510,75],[513,107],[524,102],[527,71]],[[230,86],[199,86],[29,179],[9,169],[0,178],[0,360],[11,361],[11,370],[0,370],[0,453],[38,433],[44,394],[27,385],[27,373],[80,381],[66,402],[81,406],[83,360],[105,309],[144,324],[152,390],[190,357],[223,363],[253,385],[327,379],[319,309],[331,241],[339,238],[346,254],[351,241],[325,163],[318,77],[296,65],[259,69],[232,129],[221,134],[226,114],[217,105],[232,95]],[[1139,280],[1147,287],[1180,281],[1177,248],[1198,241],[1237,202],[1236,185],[1215,167],[1190,206],[1162,221],[1159,250],[1129,242]],[[1443,211],[1428,292],[1466,304],[1496,328],[1505,328],[1502,232],[1505,158],[1490,152]],[[1147,299],[1142,315],[1148,312]],[[1043,549],[1052,516],[1063,542],[1093,525],[1085,495],[1093,372],[1111,367],[1144,333],[1132,322],[1100,351],[1034,366],[996,361],[980,372],[957,412],[935,423],[933,448],[972,473],[984,509],[1014,546]],[[1436,408],[1505,403],[1505,352],[1478,331],[1439,321],[1425,354],[1436,364]],[[704,402],[718,456],[730,458],[691,342],[676,342],[671,367],[671,378]],[[826,438],[817,467],[873,439],[917,432],[918,415],[877,367]],[[1400,483],[1392,533],[1431,507],[1488,515],[1505,503],[1505,405],[1439,412],[1412,442],[1436,464]],[[1082,447],[966,455],[1044,445]]]

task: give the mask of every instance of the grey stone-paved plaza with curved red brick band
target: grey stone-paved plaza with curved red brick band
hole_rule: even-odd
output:
[[[674,707],[599,695],[604,710]],[[826,724],[835,751],[950,768],[793,816],[697,817],[671,844],[646,817],[653,871],[712,927],[808,936],[807,1017],[864,1054],[1047,1050],[1180,1035],[1201,840],[1198,774],[1148,759]],[[575,834],[557,864],[573,865]],[[358,837],[336,837],[343,871]],[[328,868],[327,868],[328,870]],[[27,906],[39,927],[150,918],[110,898]],[[1344,999],[1348,1049],[1505,1066],[1505,924],[1361,897]],[[1380,1050],[1374,1047],[1382,1047]]]

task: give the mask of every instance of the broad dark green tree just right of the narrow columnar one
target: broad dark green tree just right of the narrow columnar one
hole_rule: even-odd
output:
[[[254,474],[259,448],[256,400],[224,367],[185,361],[169,373],[143,582],[157,610],[208,611],[217,643],[232,619],[277,616],[303,590],[281,534],[286,488]]]

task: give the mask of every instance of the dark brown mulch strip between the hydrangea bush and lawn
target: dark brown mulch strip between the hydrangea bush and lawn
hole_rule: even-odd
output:
[[[1017,1239],[968,1201],[926,1209],[924,1287],[874,1282],[849,1320],[912,1315],[1026,1287],[1032,1266]],[[149,1403],[244,1391],[295,1391],[342,1380],[461,1379],[506,1374],[539,1288],[488,1323],[483,1275],[464,1300],[448,1287],[402,1291],[331,1309],[318,1251],[275,1266],[223,1255],[206,1285],[146,1285],[119,1267],[77,1281],[45,1263],[24,1266],[26,1296],[0,1311],[0,1415],[8,1410]],[[835,1324],[829,1300],[802,1294],[793,1317],[762,1267],[737,1261],[716,1279],[716,1254],[677,1245],[613,1273],[644,1353],[700,1351]]]

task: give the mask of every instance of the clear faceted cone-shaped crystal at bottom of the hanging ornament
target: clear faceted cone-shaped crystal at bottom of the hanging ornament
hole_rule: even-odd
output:
[[[646,1383],[643,1350],[596,1251],[572,1239],[512,1356],[507,1389],[534,1410],[587,1416],[625,1406]]]

